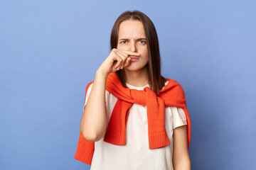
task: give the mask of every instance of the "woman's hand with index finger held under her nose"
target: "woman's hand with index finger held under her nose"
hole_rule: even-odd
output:
[[[109,74],[116,72],[119,69],[123,69],[130,64],[131,58],[129,55],[139,56],[140,54],[137,52],[117,50],[116,48],[113,48],[110,55],[104,62],[102,62],[98,70]]]

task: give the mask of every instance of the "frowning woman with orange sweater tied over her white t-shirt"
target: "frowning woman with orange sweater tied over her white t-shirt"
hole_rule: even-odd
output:
[[[191,122],[180,84],[161,76],[151,20],[126,11],[87,84],[75,159],[91,169],[191,169]]]

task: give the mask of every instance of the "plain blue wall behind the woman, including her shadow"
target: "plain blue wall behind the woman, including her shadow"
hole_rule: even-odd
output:
[[[74,159],[85,86],[114,21],[139,10],[162,75],[191,115],[192,169],[255,169],[255,1],[1,1],[0,169],[90,169]]]

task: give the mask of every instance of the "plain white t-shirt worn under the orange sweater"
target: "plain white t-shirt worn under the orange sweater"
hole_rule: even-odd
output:
[[[169,81],[166,81],[168,84]],[[165,85],[166,85],[165,84]],[[87,103],[92,85],[87,89]],[[147,84],[146,86],[149,86]],[[129,89],[143,90],[144,87],[127,84]],[[107,106],[107,122],[117,102],[117,97],[105,91]],[[104,137],[95,142],[95,152],[92,157],[91,170],[173,170],[173,130],[181,125],[187,125],[186,114],[182,108],[165,108],[165,128],[170,145],[157,149],[149,149],[148,124],[146,106],[134,103],[129,110],[126,131],[126,145],[112,145],[104,142]]]

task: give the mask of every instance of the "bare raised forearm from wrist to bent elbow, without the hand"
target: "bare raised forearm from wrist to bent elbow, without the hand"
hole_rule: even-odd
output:
[[[105,89],[107,73],[97,70],[90,96],[82,114],[80,131],[82,136],[90,142],[100,140],[107,128],[107,109],[105,103]]]

